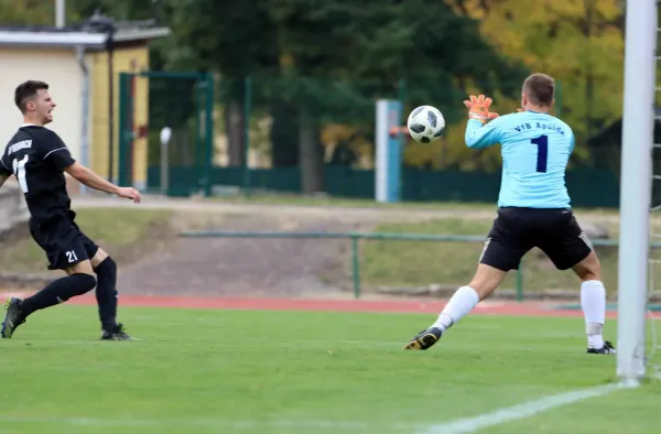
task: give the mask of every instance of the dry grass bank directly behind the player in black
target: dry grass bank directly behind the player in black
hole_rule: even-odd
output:
[[[172,216],[171,210],[126,208],[83,208],[76,214],[80,229],[118,260],[122,252],[149,245],[150,232]],[[45,272],[46,267],[44,251],[28,230],[11,241],[11,248],[0,250],[0,271]]]

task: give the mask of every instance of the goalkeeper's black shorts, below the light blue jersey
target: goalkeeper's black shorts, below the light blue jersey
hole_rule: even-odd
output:
[[[505,207],[498,209],[479,262],[516,270],[533,247],[546,253],[559,270],[568,270],[593,250],[570,209]]]

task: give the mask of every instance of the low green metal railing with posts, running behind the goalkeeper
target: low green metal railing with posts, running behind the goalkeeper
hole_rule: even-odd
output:
[[[261,239],[347,239],[351,243],[351,282],[354,297],[360,299],[361,279],[360,279],[360,240],[391,240],[391,241],[420,241],[420,242],[466,242],[484,243],[484,236],[468,235],[434,235],[434,234],[379,234],[379,232],[290,232],[290,231],[226,231],[226,230],[188,230],[182,231],[180,237],[184,238],[261,238]],[[595,247],[617,247],[617,239],[595,239],[592,241]],[[651,248],[661,248],[661,242],[650,243]],[[523,269],[520,265],[517,271],[516,291],[517,301],[524,300]]]

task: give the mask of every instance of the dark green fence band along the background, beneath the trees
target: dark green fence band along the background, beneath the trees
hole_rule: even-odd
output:
[[[196,180],[195,167],[170,167],[172,181],[170,194],[189,196]],[[300,194],[301,167],[210,169],[210,183],[214,186],[230,186],[237,191],[246,185],[248,192]],[[375,171],[357,170],[344,165],[324,165],[322,170],[325,193],[330,197],[373,199]],[[148,171],[149,185],[158,188],[161,169],[151,166]],[[465,202],[495,203],[500,188],[500,173],[460,172],[455,170],[425,171],[404,169],[402,171],[402,202]],[[619,205],[619,181],[608,171],[577,170],[566,175],[566,185],[572,196],[572,205],[577,208],[617,208]],[[598,188],[595,188],[595,185]]]

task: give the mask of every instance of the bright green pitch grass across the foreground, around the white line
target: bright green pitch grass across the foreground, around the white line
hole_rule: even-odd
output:
[[[581,318],[468,316],[431,350],[402,351],[433,315],[121,317],[142,340],[98,341],[96,308],[64,305],[0,341],[0,432],[414,433],[615,375],[614,357],[584,352]],[[651,383],[484,432],[655,433],[659,393]]]

